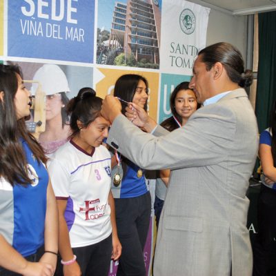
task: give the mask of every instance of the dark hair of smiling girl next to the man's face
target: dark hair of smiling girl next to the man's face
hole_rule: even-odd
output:
[[[172,112],[172,115],[175,116],[177,118],[177,120],[181,122],[182,118],[177,113],[177,110],[175,110],[175,98],[177,97],[177,93],[180,90],[191,90],[189,88],[189,82],[183,81],[183,82],[179,83],[177,85],[177,87],[175,88],[175,90],[173,90],[172,94],[170,95],[170,110]],[[200,107],[200,104],[197,103],[197,108],[199,108],[199,107]],[[165,121],[162,121],[160,126],[163,126],[164,128],[166,128],[166,130],[168,130],[170,132],[172,132],[172,130],[179,128],[177,122],[175,121],[175,119],[173,119],[173,117],[169,117]]]

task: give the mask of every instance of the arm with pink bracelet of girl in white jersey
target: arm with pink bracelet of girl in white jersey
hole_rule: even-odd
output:
[[[59,210],[59,253],[63,261],[68,262],[74,258],[74,254],[70,244],[70,237],[64,212],[66,210],[67,200],[57,200],[57,208]],[[81,275],[81,268],[77,261],[72,264],[63,265],[64,276]]]

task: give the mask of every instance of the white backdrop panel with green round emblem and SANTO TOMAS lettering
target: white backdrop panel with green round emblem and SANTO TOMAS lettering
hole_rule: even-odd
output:
[[[206,46],[209,12],[184,0],[163,1],[161,72],[192,75],[195,57]]]

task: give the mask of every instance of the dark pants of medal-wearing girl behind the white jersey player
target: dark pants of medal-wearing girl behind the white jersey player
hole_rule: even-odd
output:
[[[144,246],[150,224],[150,193],[115,199],[116,221],[122,250],[117,276],[145,276]]]

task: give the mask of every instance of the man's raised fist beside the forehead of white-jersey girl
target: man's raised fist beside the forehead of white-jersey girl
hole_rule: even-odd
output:
[[[101,106],[101,116],[106,120],[112,122],[115,118],[121,114],[121,103],[119,99],[113,97],[112,95],[107,95],[103,100],[103,104]]]

